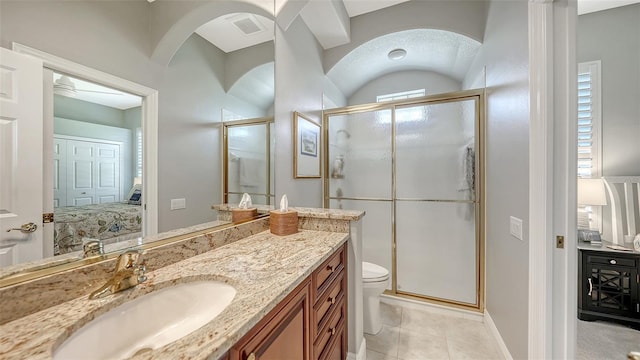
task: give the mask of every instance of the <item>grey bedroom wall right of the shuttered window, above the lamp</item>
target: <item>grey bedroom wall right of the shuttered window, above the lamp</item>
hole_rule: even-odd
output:
[[[602,175],[640,175],[640,4],[578,16],[578,62],[601,60]]]

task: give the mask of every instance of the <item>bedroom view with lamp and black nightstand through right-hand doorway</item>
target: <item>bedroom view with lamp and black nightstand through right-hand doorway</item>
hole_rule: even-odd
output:
[[[640,3],[579,14],[577,37],[576,357],[623,359],[640,351]]]

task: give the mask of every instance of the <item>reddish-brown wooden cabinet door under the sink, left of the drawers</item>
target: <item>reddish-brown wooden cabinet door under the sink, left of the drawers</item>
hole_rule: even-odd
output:
[[[232,360],[309,359],[309,287],[305,282],[231,350]]]

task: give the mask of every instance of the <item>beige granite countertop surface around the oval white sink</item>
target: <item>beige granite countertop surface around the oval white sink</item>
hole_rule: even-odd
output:
[[[155,289],[197,280],[226,282],[237,291],[214,320],[135,359],[217,359],[348,238],[346,233],[264,231],[147,273],[137,287],[102,299],[88,294],[0,326],[0,358],[49,359],[53,349],[91,319]],[[105,346],[109,341],[105,339]]]

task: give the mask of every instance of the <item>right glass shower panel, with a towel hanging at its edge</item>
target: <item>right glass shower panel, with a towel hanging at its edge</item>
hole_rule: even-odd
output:
[[[477,305],[477,100],[396,109],[396,291]]]

